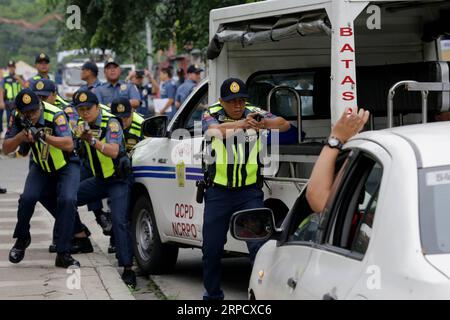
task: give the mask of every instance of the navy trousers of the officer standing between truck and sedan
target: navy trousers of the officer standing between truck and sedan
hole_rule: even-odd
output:
[[[220,287],[221,259],[231,216],[236,211],[262,208],[263,200],[264,193],[257,186],[238,190],[210,187],[206,190],[202,247],[204,300],[224,298]],[[262,241],[247,242],[252,263],[263,244]]]

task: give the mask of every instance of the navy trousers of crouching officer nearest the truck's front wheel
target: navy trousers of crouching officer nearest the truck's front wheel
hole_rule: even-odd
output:
[[[120,179],[100,179],[92,177],[83,180],[78,189],[77,205],[84,206],[93,201],[101,201],[109,198],[111,202],[111,219],[113,233],[117,249],[119,266],[129,267],[133,265],[133,244],[130,232],[129,207],[130,207],[129,182]],[[81,222],[77,219],[76,224]],[[75,226],[75,230],[79,226]]]

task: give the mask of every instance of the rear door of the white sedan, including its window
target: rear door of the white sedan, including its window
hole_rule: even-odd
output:
[[[367,276],[364,257],[370,254],[371,230],[389,156],[378,145],[365,144],[372,144],[374,152],[351,152],[351,161],[322,213],[317,243],[296,298],[345,299]]]

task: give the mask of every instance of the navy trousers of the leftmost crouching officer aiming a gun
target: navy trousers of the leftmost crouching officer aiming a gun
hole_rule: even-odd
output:
[[[55,218],[58,229],[57,252],[69,253],[77,210],[79,182],[78,160],[69,162],[54,173],[44,172],[37,164],[31,163],[23,193],[19,198],[14,238],[30,238],[30,220],[39,201]]]

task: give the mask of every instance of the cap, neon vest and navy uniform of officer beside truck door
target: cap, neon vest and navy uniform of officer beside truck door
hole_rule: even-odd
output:
[[[245,84],[239,79],[226,80],[221,87],[221,98],[225,101],[248,98]],[[246,105],[241,119],[254,112],[265,118],[275,118],[259,108]],[[210,106],[202,117],[205,131],[211,125],[232,121],[238,120],[229,118],[220,103]],[[250,136],[249,131],[249,139],[237,139],[233,136],[221,140],[212,137],[207,142],[208,154],[214,155],[216,161],[204,164],[207,168],[205,180],[208,186],[205,193],[202,247],[205,300],[224,298],[220,288],[221,258],[232,214],[239,210],[264,207],[258,157],[262,142],[260,134],[251,130],[254,135]],[[261,244],[247,243],[252,261]]]

